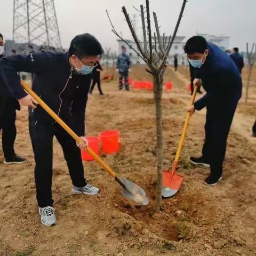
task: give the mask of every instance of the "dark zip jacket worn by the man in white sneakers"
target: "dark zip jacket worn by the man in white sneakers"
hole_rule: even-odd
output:
[[[19,71],[34,73],[32,89],[45,103],[68,122],[75,132],[84,135],[84,118],[91,75],[72,72],[68,53],[41,52],[15,55],[0,60],[7,84],[16,99],[27,95],[20,85]],[[32,112],[35,121],[53,123],[41,106]],[[71,123],[70,123],[71,121]]]

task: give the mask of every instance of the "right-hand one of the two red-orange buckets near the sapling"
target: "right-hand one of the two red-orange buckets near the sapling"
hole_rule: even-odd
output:
[[[104,131],[99,134],[105,154],[117,153],[119,150],[119,131]]]

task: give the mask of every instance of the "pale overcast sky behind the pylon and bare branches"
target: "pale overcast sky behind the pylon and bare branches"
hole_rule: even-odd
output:
[[[103,47],[117,51],[117,37],[111,32],[106,15],[110,17],[117,31],[131,39],[124,21],[121,7],[129,13],[137,13],[133,5],[145,4],[141,0],[55,0],[61,42],[68,47],[71,39],[82,33],[91,33]],[[155,11],[161,25],[161,33],[172,34],[182,0],[150,0],[151,12]],[[6,39],[12,38],[13,1],[0,0],[0,33]],[[230,36],[230,47],[245,50],[246,42],[256,42],[256,0],[188,0],[178,35],[193,36],[198,33]],[[139,18],[139,17],[138,17]],[[153,19],[153,17],[152,17]],[[140,32],[141,22],[137,22]],[[141,36],[141,34],[139,33]]]

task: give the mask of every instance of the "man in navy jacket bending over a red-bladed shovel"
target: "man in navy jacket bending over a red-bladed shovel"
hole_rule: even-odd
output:
[[[229,55],[217,45],[207,43],[204,37],[189,38],[185,52],[195,68],[194,86],[202,83],[206,91],[188,111],[192,115],[195,110],[207,109],[202,156],[190,157],[190,161],[210,166],[205,184],[214,186],[222,179],[228,133],[242,95],[241,75]]]

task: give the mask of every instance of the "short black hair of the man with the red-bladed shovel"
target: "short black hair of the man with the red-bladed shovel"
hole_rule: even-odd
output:
[[[207,49],[207,42],[205,38],[202,36],[190,37],[184,46],[184,51],[187,54],[192,54],[196,52],[204,53],[206,49]]]

